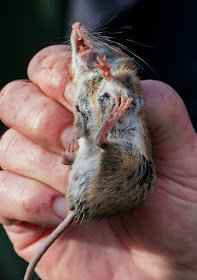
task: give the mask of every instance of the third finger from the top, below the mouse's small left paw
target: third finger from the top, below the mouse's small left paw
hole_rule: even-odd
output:
[[[69,167],[61,163],[61,156],[43,149],[14,129],[1,138],[0,165],[65,194]]]

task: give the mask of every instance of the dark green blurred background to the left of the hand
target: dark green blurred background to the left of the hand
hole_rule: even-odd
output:
[[[27,78],[27,65],[40,49],[64,42],[66,8],[64,0],[1,1],[0,88]],[[5,129],[0,123],[1,134]],[[26,266],[0,226],[0,279],[23,279]]]

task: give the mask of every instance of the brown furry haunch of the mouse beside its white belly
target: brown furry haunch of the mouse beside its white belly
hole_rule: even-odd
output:
[[[117,144],[108,144],[92,184],[79,202],[77,216],[87,222],[99,221],[134,208],[153,189],[154,178],[151,161],[142,155],[128,154]]]

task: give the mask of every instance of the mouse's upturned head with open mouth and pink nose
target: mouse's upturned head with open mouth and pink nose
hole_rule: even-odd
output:
[[[120,57],[117,48],[112,48],[91,35],[79,22],[72,25],[71,46],[72,72],[76,79],[81,74],[95,69],[94,63],[97,62],[97,56],[101,58],[106,56],[108,59]]]

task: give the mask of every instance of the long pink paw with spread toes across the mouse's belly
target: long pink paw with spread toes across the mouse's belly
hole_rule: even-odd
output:
[[[119,103],[119,96],[117,95],[115,97],[115,106],[113,111],[110,113],[109,109],[106,110],[107,118],[97,135],[97,146],[102,147],[103,144],[108,143],[107,137],[110,130],[112,129],[114,124],[124,115],[126,109],[133,101],[133,98],[129,98],[126,102],[125,99],[125,95],[122,95],[121,103]]]

